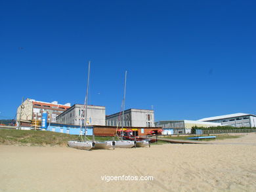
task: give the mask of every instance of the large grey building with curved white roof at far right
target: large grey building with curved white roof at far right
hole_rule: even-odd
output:
[[[199,119],[198,121],[221,123],[221,125],[236,126],[236,127],[241,127],[241,126],[255,127],[256,115],[252,115],[248,113],[234,113],[229,115],[207,117],[207,118]]]

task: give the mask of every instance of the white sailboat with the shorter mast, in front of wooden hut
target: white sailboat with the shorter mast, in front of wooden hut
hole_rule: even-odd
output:
[[[124,124],[124,110],[125,110],[125,91],[126,91],[126,77],[127,77],[127,71],[125,71],[125,88],[124,88],[124,94],[123,94],[123,103],[122,103],[122,108],[123,108],[123,119],[122,119],[122,129],[121,129],[121,140],[114,141],[115,142],[115,147],[119,148],[131,148],[135,147],[135,142],[134,141],[129,141],[129,140],[123,140],[123,124]]]

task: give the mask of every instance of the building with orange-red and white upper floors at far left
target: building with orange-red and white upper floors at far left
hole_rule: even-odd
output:
[[[18,106],[16,113],[17,123],[21,122],[22,126],[32,126],[33,122],[40,122],[42,113],[48,113],[48,121],[56,123],[56,117],[70,108],[70,103],[58,104],[58,102],[41,102],[33,99],[26,99]]]

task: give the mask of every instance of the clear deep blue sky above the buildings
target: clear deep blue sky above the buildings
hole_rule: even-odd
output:
[[[256,113],[256,1],[1,1],[0,119],[22,97],[156,121]]]

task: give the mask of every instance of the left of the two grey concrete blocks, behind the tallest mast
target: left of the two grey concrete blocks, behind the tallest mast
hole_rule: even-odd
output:
[[[75,104],[56,117],[56,122],[65,125],[85,125],[85,105]],[[87,125],[106,125],[106,109],[104,106],[87,106]]]

